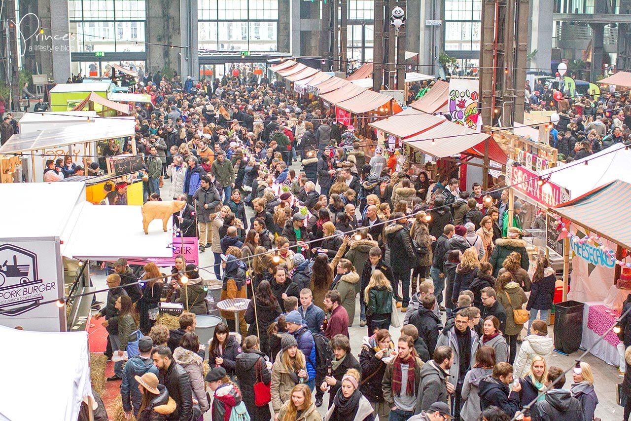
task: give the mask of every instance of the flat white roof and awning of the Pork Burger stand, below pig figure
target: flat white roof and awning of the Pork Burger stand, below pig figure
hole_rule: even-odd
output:
[[[73,259],[115,260],[172,257],[173,229],[162,221],[143,232],[141,206],[98,206],[86,202],[85,183],[0,183],[0,237],[59,237],[61,253]],[[106,228],[112,221],[112,227]]]

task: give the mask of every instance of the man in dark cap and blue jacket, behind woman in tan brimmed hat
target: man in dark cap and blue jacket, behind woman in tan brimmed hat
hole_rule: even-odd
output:
[[[138,410],[143,401],[143,395],[138,390],[138,382],[134,376],[138,375],[138,377],[143,377],[143,374],[146,373],[158,375],[158,367],[153,365],[153,360],[151,360],[152,349],[153,341],[149,336],[140,338],[138,341],[140,355],[130,358],[122,371],[122,409],[127,415],[131,415],[133,410],[134,417],[138,417]]]

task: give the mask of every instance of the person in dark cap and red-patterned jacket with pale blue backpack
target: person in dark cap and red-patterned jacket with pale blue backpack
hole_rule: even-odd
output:
[[[230,381],[223,367],[214,367],[206,374],[208,387],[213,391],[213,420],[250,421],[241,392],[236,384]]]

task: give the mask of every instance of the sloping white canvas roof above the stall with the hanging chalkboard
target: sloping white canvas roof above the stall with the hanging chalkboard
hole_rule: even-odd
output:
[[[86,118],[85,123],[73,126],[13,135],[0,147],[0,154],[17,154],[133,135],[133,118],[94,118],[89,123]]]

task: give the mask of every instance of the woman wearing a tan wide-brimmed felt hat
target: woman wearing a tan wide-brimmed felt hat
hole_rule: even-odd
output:
[[[134,376],[143,400],[138,410],[138,421],[166,421],[175,412],[175,401],[168,396],[167,387],[158,383],[158,376],[145,373]]]

